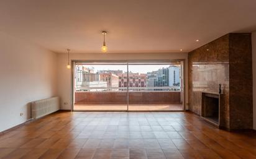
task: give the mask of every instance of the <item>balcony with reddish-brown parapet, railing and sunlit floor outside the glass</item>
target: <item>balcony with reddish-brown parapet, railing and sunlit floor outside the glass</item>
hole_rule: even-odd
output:
[[[146,90],[132,87],[129,88],[129,93],[124,87],[104,91],[101,89],[98,92],[80,90],[75,92],[74,110],[126,111],[129,103],[129,111],[181,111],[183,110],[181,94],[178,88],[176,91],[152,91],[149,87]]]

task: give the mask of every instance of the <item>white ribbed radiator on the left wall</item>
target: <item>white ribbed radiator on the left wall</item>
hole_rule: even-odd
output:
[[[59,97],[33,101],[31,105],[32,119],[40,118],[58,110],[60,110]]]

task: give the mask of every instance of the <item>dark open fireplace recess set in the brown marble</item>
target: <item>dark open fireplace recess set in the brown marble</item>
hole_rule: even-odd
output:
[[[202,93],[201,117],[219,127],[220,102],[219,93]]]

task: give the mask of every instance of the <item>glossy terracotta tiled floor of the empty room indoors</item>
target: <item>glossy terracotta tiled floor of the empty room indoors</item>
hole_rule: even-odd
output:
[[[62,112],[0,135],[0,158],[256,158],[256,134],[191,113]]]

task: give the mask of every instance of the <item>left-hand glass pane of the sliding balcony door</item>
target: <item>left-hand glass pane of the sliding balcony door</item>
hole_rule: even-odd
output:
[[[124,72],[127,62],[75,62],[73,110],[127,111]]]

